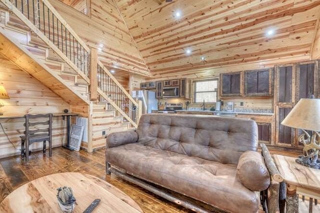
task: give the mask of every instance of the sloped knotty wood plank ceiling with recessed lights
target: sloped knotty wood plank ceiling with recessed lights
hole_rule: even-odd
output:
[[[320,0],[114,2],[153,77],[311,59],[320,17]]]

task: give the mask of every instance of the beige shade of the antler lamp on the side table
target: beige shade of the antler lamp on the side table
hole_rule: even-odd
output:
[[[320,131],[320,99],[301,98],[281,124],[296,129]]]

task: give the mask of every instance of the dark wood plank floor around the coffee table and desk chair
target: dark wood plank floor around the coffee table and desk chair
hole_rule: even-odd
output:
[[[0,159],[0,201],[34,179],[60,172],[79,172],[93,175],[117,187],[132,198],[144,213],[192,212],[113,175],[105,175],[104,149],[87,153],[59,147],[52,149],[51,158],[42,155],[42,152],[34,152],[29,159],[27,165],[21,162],[20,156]]]

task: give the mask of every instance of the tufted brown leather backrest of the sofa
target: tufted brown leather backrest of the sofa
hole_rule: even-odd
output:
[[[194,115],[144,114],[136,130],[138,143],[223,164],[257,150],[253,120]]]

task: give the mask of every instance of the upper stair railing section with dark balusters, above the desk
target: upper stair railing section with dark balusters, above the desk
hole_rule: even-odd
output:
[[[89,83],[90,48],[47,0],[1,2]]]

